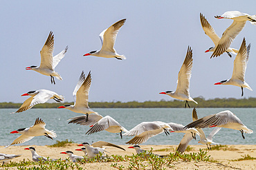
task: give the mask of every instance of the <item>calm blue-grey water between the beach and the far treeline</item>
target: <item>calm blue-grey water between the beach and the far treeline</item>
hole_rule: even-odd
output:
[[[249,129],[255,131],[255,108],[228,108],[230,111],[235,113],[241,121]],[[9,134],[10,131],[17,130],[19,128],[30,127],[34,125],[37,117],[42,118],[46,123],[46,129],[55,130],[57,138],[51,140],[45,136],[37,136],[32,140],[19,145],[53,145],[56,140],[73,140],[74,142],[95,142],[98,140],[104,140],[107,142],[113,142],[118,145],[125,145],[125,142],[129,141],[131,137],[123,136],[120,138],[118,134],[111,134],[107,131],[100,131],[92,135],[85,135],[89,127],[81,125],[68,124],[67,119],[73,116],[79,116],[67,109],[29,109],[19,114],[9,114],[10,112],[16,111],[17,109],[0,109],[0,145],[9,145],[19,134]],[[116,119],[120,125],[125,127],[127,130],[135,127],[139,123],[144,121],[155,121],[160,120],[165,123],[181,123],[188,125],[192,122],[192,108],[190,109],[93,109],[102,116],[111,116]],[[209,114],[216,114],[219,111],[227,110],[227,108],[203,108],[197,109],[198,117],[207,116]],[[212,129],[204,129],[205,135],[208,136]],[[256,133],[256,132],[255,132]],[[256,135],[245,134],[246,139],[241,137],[241,132],[233,129],[222,128],[217,135],[214,136],[214,142],[221,145],[255,145]],[[160,134],[153,138],[150,138],[143,145],[179,145],[179,142],[183,138],[183,134],[172,133],[170,136]],[[190,145],[197,145],[199,136],[196,140],[192,140]]]

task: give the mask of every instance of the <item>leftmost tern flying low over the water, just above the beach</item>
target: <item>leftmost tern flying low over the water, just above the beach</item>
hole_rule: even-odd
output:
[[[44,123],[41,118],[37,118],[33,126],[17,129],[17,131],[10,132],[10,134],[21,134],[21,136],[16,138],[10,145],[27,142],[35,136],[46,136],[47,138],[51,138],[52,140],[53,138],[56,138],[57,135],[55,134],[55,131],[49,131],[48,129],[45,129],[45,126],[46,123]],[[6,147],[10,147],[10,145]]]

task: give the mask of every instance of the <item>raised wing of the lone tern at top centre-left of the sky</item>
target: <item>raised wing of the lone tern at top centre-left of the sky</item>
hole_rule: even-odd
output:
[[[107,28],[107,30],[104,30],[100,33],[100,39],[103,41],[101,50],[116,52],[116,50],[113,48],[113,45],[115,44],[118,31],[122,25],[124,25],[125,21],[126,19],[122,19],[111,25],[109,28]]]

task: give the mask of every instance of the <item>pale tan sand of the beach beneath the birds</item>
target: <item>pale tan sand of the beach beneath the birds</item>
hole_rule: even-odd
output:
[[[136,153],[134,149],[128,149],[131,145],[120,145],[124,147],[126,151],[122,151],[121,149],[116,149],[113,147],[109,147],[107,151],[114,155],[132,155],[132,153]],[[8,154],[22,154],[21,157],[15,158],[12,161],[19,161],[24,159],[32,160],[31,152],[28,150],[24,150],[26,147],[35,147],[37,153],[40,156],[50,157],[50,158],[67,158],[68,156],[65,154],[61,154],[62,151],[73,151],[77,156],[83,156],[84,153],[82,151],[75,151],[80,147],[77,147],[77,144],[68,144],[66,147],[47,147],[47,146],[11,146],[8,148],[0,147],[0,153],[8,153]],[[153,148],[153,152],[166,155],[170,152],[174,152],[176,149],[176,145],[140,145],[142,149],[150,150]],[[198,152],[199,149],[206,149],[205,145],[190,145],[192,147],[192,151],[190,152]],[[170,151],[155,151],[157,149],[170,149]],[[185,153],[190,153],[185,152]],[[242,161],[231,161],[242,158],[241,156],[250,155],[251,157],[256,158],[256,145],[228,145],[228,149],[223,151],[223,149],[217,151],[212,150],[209,151],[208,155],[213,160],[217,160],[217,162],[174,162],[174,167],[172,169],[256,169],[256,160],[242,160]],[[128,167],[128,162],[118,162],[120,166],[122,164],[124,167]],[[111,162],[107,163],[88,163],[84,165],[84,169],[115,169],[110,167]],[[1,167],[0,167],[1,169]],[[167,168],[168,169],[168,168]],[[171,168],[170,168],[171,169]]]

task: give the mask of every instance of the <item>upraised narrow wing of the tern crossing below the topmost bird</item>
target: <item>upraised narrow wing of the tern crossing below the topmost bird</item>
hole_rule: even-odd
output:
[[[214,45],[217,45],[221,38],[219,38],[219,36],[215,33],[210,23],[208,23],[207,19],[205,19],[205,17],[201,13],[200,13],[200,21],[205,34],[208,35],[210,39],[212,39]]]

